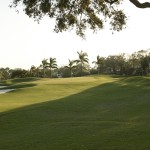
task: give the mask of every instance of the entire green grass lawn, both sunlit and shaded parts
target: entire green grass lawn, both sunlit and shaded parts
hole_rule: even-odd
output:
[[[15,79],[0,95],[0,150],[149,150],[150,78]]]

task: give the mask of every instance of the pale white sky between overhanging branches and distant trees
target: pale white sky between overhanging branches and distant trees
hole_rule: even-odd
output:
[[[10,9],[10,3],[11,0],[0,0],[0,68],[30,69],[50,57],[63,66],[68,59],[77,59],[77,51],[81,50],[88,53],[91,64],[97,55],[131,54],[150,48],[150,8],[138,9],[125,1],[123,9],[128,16],[125,30],[114,34],[108,29],[96,34],[87,31],[83,40],[74,31],[53,32],[53,20],[45,17],[38,24],[22,12]]]

